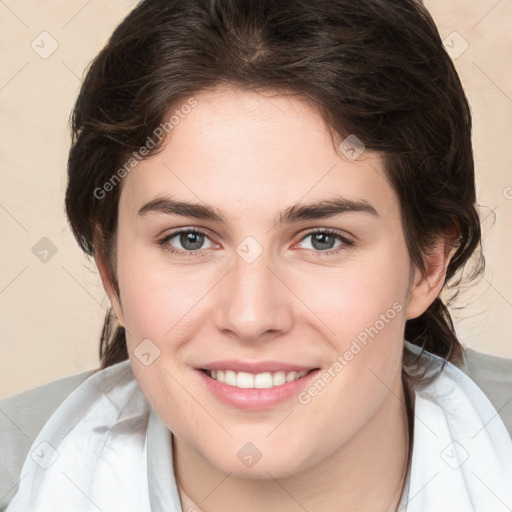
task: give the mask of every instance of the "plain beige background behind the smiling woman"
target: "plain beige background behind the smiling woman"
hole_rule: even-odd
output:
[[[68,118],[83,70],[135,4],[0,0],[0,398],[98,364],[107,300],[64,215]],[[512,0],[426,5],[474,116],[487,271],[457,330],[512,357]],[[46,262],[32,252],[43,237],[57,250]]]

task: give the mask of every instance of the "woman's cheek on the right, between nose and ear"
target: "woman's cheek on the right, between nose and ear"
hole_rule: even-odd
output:
[[[332,400],[370,404],[387,392],[386,386],[396,385],[402,367],[409,264],[402,241],[368,257],[358,255],[330,273],[324,269],[313,277],[297,278],[297,294],[315,313],[309,316],[313,328],[324,333],[331,364],[339,363],[340,371],[333,369],[339,377],[329,386]]]

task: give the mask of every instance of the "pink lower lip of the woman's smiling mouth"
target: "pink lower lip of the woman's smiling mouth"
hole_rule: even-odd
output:
[[[197,370],[208,389],[220,400],[238,409],[263,410],[296,396],[319,370],[313,370],[304,377],[272,388],[237,388],[212,379],[204,371]]]

